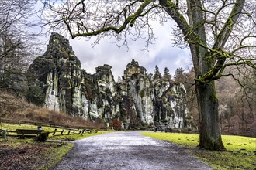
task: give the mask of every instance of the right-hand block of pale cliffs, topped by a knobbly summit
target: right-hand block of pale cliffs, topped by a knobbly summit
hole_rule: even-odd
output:
[[[164,79],[152,79],[151,74],[133,60],[126,66],[123,80],[117,84],[123,98],[133,104],[137,122],[132,122],[183,128],[187,114],[185,87]]]

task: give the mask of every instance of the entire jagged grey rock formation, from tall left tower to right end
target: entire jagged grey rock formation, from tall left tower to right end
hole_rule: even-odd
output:
[[[130,127],[185,127],[186,92],[181,83],[153,80],[134,60],[116,83],[111,68],[105,64],[93,75],[86,73],[68,40],[53,33],[47,51],[29,67],[28,100],[90,120],[118,118]]]

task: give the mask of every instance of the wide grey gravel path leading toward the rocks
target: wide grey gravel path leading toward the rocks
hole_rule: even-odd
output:
[[[166,141],[140,131],[114,132],[75,141],[74,148],[55,169],[142,170],[212,169]]]

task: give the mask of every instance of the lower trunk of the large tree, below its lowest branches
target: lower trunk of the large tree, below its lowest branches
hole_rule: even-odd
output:
[[[199,104],[199,146],[208,150],[224,150],[214,82],[197,82],[196,92]]]

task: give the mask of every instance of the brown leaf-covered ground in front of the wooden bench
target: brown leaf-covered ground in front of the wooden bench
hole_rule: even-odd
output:
[[[0,170],[35,170],[47,167],[50,150],[61,143],[9,140],[0,142]]]

